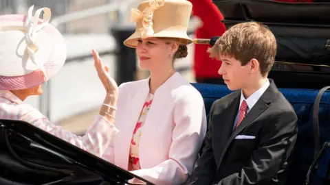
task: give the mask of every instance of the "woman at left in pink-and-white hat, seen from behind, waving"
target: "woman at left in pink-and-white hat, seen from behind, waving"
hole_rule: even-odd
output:
[[[48,8],[36,10],[33,6],[24,15],[0,16],[0,119],[21,120],[40,127],[73,145],[102,157],[116,130],[115,93],[118,88],[107,89],[100,115],[85,136],[74,136],[56,127],[39,110],[23,101],[31,95],[41,95],[41,84],[47,82],[63,66],[66,58],[65,40],[60,32],[50,25]],[[44,12],[43,19],[39,18]],[[98,73],[102,66],[96,62]]]

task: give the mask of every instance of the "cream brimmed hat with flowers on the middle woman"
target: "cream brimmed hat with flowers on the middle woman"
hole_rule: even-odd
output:
[[[186,0],[149,0],[131,11],[134,34],[124,41],[136,47],[140,38],[175,38],[181,45],[192,42],[187,34],[192,4]]]

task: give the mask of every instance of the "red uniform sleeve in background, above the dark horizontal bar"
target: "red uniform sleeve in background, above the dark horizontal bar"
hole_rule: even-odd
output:
[[[208,36],[221,36],[225,32],[225,24],[221,22],[223,15],[212,3],[212,0],[189,0],[192,3],[192,13],[201,18],[203,26],[199,29]]]

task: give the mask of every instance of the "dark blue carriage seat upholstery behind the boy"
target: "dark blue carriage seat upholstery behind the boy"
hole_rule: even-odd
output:
[[[206,114],[209,114],[212,103],[231,93],[227,86],[211,84],[192,84],[203,96]],[[313,104],[318,90],[280,88],[281,93],[292,103],[298,116],[298,138],[294,151],[294,164],[289,171],[288,185],[303,185],[311,162],[314,159],[314,144],[312,134]],[[330,138],[330,92],[326,92],[319,109],[320,141]],[[328,152],[329,153],[329,152]],[[314,185],[314,184],[313,184]]]

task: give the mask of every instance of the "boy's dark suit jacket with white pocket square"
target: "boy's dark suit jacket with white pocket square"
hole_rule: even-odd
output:
[[[186,184],[284,184],[296,142],[297,116],[270,79],[270,86],[233,132],[241,90],[215,101],[198,167]],[[238,135],[254,139],[235,139]]]

